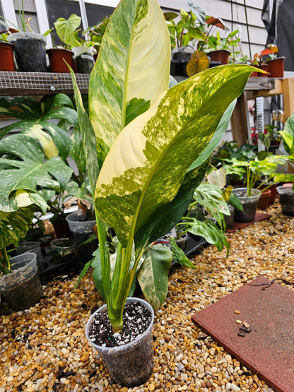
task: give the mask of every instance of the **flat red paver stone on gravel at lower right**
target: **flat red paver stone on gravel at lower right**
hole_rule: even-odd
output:
[[[194,314],[192,320],[266,384],[278,392],[293,392],[294,291],[264,283],[270,280],[259,276]],[[236,320],[246,320],[252,329],[244,338],[237,335]]]

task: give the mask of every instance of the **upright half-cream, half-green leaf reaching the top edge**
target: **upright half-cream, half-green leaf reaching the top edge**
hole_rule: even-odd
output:
[[[148,109],[170,74],[170,37],[156,0],[122,1],[90,75],[90,120],[100,165],[131,119]]]

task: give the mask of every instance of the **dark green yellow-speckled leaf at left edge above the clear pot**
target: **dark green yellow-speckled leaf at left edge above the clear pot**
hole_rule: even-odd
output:
[[[0,249],[17,245],[30,228],[34,216],[32,207],[19,208],[13,213],[0,211]]]

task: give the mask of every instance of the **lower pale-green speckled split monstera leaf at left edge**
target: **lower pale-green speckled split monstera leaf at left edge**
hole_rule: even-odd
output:
[[[0,155],[8,154],[18,159],[0,158],[4,170],[0,173],[0,195],[8,198],[12,191],[36,191],[37,186],[60,191],[72,174],[60,157],[45,160],[40,144],[30,136],[17,134],[0,141]]]

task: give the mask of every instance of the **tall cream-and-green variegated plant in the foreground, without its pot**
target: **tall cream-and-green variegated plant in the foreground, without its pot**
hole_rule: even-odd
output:
[[[165,298],[172,256],[163,245],[149,245],[184,215],[228,125],[230,104],[254,69],[219,66],[167,90],[169,70],[170,38],[157,1],[122,0],[90,75],[90,119],[72,73],[95,193],[95,263],[115,331],[122,329],[136,273],[155,308]],[[119,240],[114,263],[106,242],[109,226]],[[157,265],[164,273],[153,273]]]

